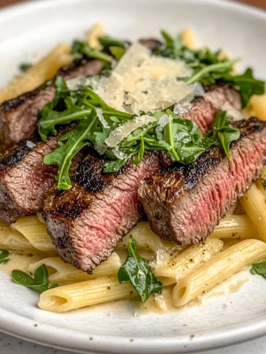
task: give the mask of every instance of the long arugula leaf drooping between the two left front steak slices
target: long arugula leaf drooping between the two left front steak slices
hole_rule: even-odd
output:
[[[45,165],[59,166],[57,175],[57,187],[59,190],[68,190],[71,188],[69,169],[72,158],[94,139],[93,131],[95,130],[97,120],[97,113],[95,109],[92,109],[88,118],[79,123],[76,129],[60,138],[58,142],[60,147],[51,154],[46,155],[43,159]]]

